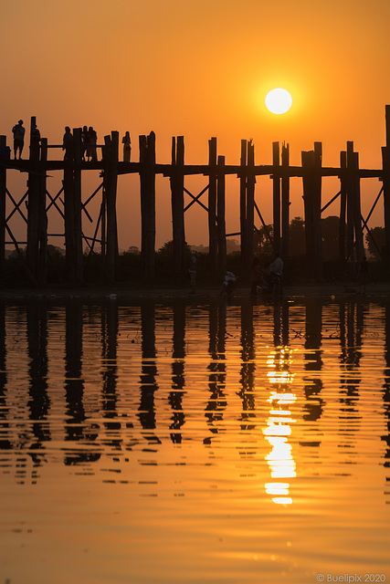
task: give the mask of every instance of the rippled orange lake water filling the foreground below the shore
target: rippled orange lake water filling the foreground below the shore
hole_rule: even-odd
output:
[[[385,301],[42,298],[0,339],[0,584],[390,579]]]

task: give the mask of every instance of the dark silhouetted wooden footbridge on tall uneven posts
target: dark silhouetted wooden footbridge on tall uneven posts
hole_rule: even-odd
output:
[[[36,127],[35,117],[31,118],[31,129]],[[26,271],[32,283],[37,286],[47,284],[47,231],[48,212],[56,210],[64,224],[66,265],[69,284],[83,283],[83,245],[92,254],[100,245],[103,274],[111,281],[117,278],[118,269],[118,228],[117,228],[117,185],[121,174],[138,174],[140,177],[141,226],[142,226],[142,271],[148,281],[153,281],[155,261],[156,189],[157,174],[169,177],[171,186],[174,272],[184,271],[184,213],[193,204],[199,204],[208,215],[209,260],[216,272],[222,272],[227,262],[227,236],[239,235],[242,266],[247,270],[253,255],[253,238],[262,224],[267,231],[260,205],[255,196],[257,176],[269,175],[272,179],[273,234],[269,240],[276,253],[285,261],[289,259],[290,224],[290,178],[301,177],[303,186],[304,222],[306,240],[306,261],[311,272],[318,279],[322,276],[321,213],[336,199],[340,201],[339,253],[342,261],[359,262],[364,255],[364,230],[370,233],[368,221],[381,197],[384,202],[385,250],[379,250],[390,267],[390,106],[385,107],[386,146],[382,148],[381,169],[367,170],[359,167],[358,152],[353,150],[353,142],[347,141],[346,150],[340,153],[340,166],[322,166],[321,142],[315,142],[312,151],[301,152],[301,166],[290,165],[290,148],[279,142],[272,144],[272,164],[255,164],[255,149],[252,141],[241,141],[239,164],[227,165],[225,156],[217,154],[216,138],[208,142],[208,163],[190,165],[184,163],[184,137],[172,139],[172,162],[159,164],[155,155],[155,135],[139,137],[139,162],[119,160],[119,133],[111,131],[100,145],[99,162],[83,162],[81,150],[81,130],[73,130],[74,152],[71,160],[48,160],[49,149],[61,146],[47,144],[47,139],[30,141],[28,160],[0,160],[0,273],[5,264],[5,245],[14,245],[17,253],[24,258]],[[6,151],[6,137],[0,136],[0,151]],[[99,170],[99,187],[85,196],[81,190],[81,175],[91,169]],[[7,173],[11,171],[27,173],[26,192],[16,197],[7,188]],[[56,194],[47,191],[47,173],[63,173],[62,187]],[[188,175],[203,175],[208,184],[200,193],[194,194],[184,186]],[[227,175],[236,175],[239,180],[240,231],[227,234],[226,194]],[[340,190],[331,201],[322,203],[322,179],[338,177]],[[382,187],[374,205],[364,219],[361,212],[361,180],[376,177]],[[184,205],[184,193],[190,203]],[[83,233],[83,219],[93,223],[89,204],[98,194],[101,196],[100,214],[94,225],[94,235]],[[259,197],[258,197],[259,198]],[[8,205],[6,204],[8,200]],[[26,203],[26,211],[22,203]],[[6,207],[11,204],[11,212]],[[10,219],[18,214],[26,223],[26,242],[16,240],[10,228]],[[26,245],[26,257],[21,245]]]

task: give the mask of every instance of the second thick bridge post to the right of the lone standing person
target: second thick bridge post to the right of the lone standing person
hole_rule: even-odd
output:
[[[184,275],[184,136],[172,139],[172,230],[174,240],[174,274]]]

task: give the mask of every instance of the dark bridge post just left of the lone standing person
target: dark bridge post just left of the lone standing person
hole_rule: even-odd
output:
[[[117,187],[118,187],[118,156],[119,156],[119,132],[112,131],[111,137],[104,138],[108,148],[108,166],[106,182],[106,204],[107,204],[107,255],[105,272],[114,281],[118,272],[119,249],[118,249],[118,225],[117,225]]]

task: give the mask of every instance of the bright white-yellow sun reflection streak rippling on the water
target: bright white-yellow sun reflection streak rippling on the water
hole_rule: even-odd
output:
[[[294,380],[290,372],[291,355],[288,347],[281,347],[271,351],[267,366],[267,377],[271,383],[269,393],[269,417],[267,427],[263,434],[269,442],[272,450],[265,456],[269,464],[272,479],[287,479],[297,475],[296,464],[292,456],[292,448],[288,442],[291,434],[291,424],[296,422],[291,417],[290,404],[297,401],[297,396],[290,390],[290,384]],[[272,496],[273,503],[277,505],[290,505],[290,483],[272,482],[266,483],[266,493]]]

